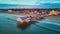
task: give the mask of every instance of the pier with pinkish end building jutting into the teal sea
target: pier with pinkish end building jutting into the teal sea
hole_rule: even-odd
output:
[[[36,18],[36,17],[22,17],[22,18],[17,18],[16,21],[19,23],[19,24],[29,24],[29,23],[32,23],[32,22],[37,22],[37,20],[40,20],[40,19],[43,19],[43,17],[39,17],[39,18]]]

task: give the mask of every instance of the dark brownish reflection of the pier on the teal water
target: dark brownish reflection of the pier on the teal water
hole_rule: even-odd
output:
[[[38,23],[37,21],[31,21],[29,23],[24,23],[24,24],[17,24],[17,28],[19,32],[23,32],[24,30],[28,29],[31,24]]]

